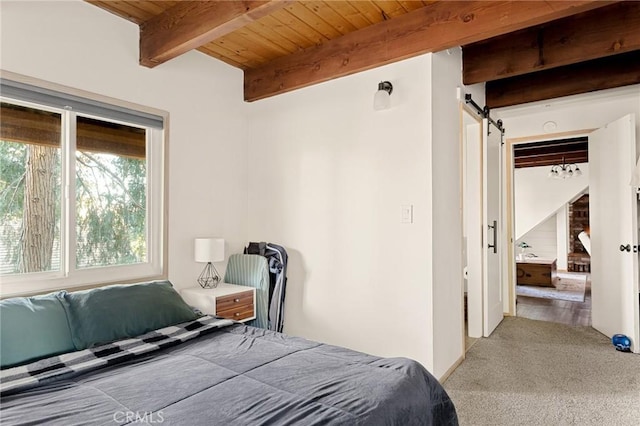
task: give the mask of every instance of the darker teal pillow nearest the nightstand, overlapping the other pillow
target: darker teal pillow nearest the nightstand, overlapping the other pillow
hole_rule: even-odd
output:
[[[169,281],[63,291],[58,297],[78,350],[198,318]]]

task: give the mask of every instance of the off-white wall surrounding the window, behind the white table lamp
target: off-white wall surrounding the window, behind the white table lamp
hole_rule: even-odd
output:
[[[196,51],[138,65],[138,27],[80,2],[2,1],[2,69],[170,112],[169,278],[195,284],[193,239],[246,242],[242,72]]]

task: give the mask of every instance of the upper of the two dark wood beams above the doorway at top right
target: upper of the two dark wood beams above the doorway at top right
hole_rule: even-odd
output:
[[[621,2],[463,48],[475,84],[640,49],[640,2]]]

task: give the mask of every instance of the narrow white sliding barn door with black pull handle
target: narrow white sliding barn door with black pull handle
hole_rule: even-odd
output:
[[[482,121],[482,252],[483,333],[491,335],[503,318],[502,304],[502,181],[500,177],[502,132]]]

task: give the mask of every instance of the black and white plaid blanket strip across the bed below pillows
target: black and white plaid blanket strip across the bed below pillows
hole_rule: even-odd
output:
[[[6,395],[106,367],[178,345],[207,332],[234,324],[235,321],[204,316],[195,321],[151,331],[134,339],[119,340],[82,351],[45,358],[0,372],[0,394]]]

